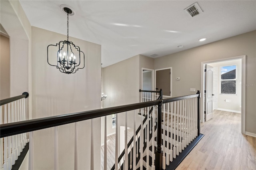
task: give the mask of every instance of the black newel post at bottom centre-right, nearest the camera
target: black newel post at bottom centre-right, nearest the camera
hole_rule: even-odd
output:
[[[161,100],[162,100],[162,89],[160,89]],[[163,163],[163,152],[161,150],[162,145],[162,103],[158,104],[158,111],[157,111],[157,137],[156,137],[156,170],[162,170],[162,163]]]

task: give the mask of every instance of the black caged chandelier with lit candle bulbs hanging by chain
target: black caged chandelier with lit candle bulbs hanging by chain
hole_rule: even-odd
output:
[[[72,13],[72,10],[70,10],[70,8],[64,7],[63,10],[67,13],[67,15]],[[67,28],[68,26],[69,25],[67,22]],[[67,32],[68,32],[68,29],[67,29]],[[49,55],[52,54],[49,49],[50,46],[58,47],[56,65],[49,63]],[[48,45],[47,62],[49,65],[56,66],[62,73],[66,73],[66,74],[76,73],[78,69],[84,68],[84,53],[80,51],[80,47],[76,46],[73,42],[68,41],[68,35],[67,35],[67,40],[60,41],[56,45]]]

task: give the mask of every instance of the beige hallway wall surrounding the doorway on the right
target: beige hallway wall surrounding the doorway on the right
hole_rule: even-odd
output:
[[[190,95],[201,89],[201,63],[246,55],[245,130],[256,134],[256,31],[209,43],[154,60],[154,68],[172,67],[173,97]],[[177,81],[176,77],[181,77]]]

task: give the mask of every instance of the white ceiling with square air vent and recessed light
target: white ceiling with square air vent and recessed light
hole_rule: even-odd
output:
[[[32,26],[60,34],[67,34],[67,17],[60,5],[72,7],[69,36],[102,45],[102,67],[138,54],[161,57],[256,30],[255,0],[199,0],[204,12],[192,18],[184,9],[194,2],[20,0]],[[199,42],[203,37],[207,40]]]

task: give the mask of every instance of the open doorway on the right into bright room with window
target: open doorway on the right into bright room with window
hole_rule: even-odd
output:
[[[211,119],[214,109],[241,113],[241,133],[245,134],[245,58],[242,55],[201,63],[201,123]]]

